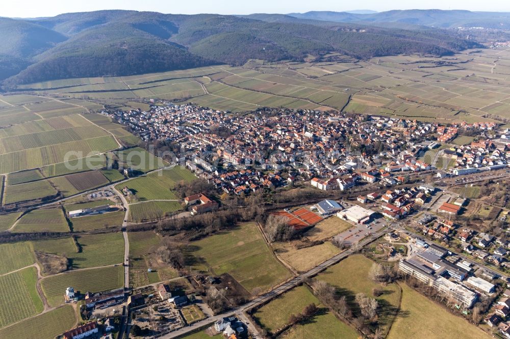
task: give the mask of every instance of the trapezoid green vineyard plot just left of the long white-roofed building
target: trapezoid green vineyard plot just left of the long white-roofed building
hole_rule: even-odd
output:
[[[14,232],[69,232],[69,225],[60,208],[33,210],[23,215]]]

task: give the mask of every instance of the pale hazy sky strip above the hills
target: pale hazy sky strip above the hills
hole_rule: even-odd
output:
[[[41,17],[60,13],[85,12],[105,9],[130,9],[161,13],[290,13],[308,11],[348,11],[371,9],[388,11],[392,9],[465,9],[471,11],[510,12],[508,0],[492,0],[488,3],[473,0],[428,0],[428,1],[381,1],[359,2],[345,0],[0,0],[0,16]]]

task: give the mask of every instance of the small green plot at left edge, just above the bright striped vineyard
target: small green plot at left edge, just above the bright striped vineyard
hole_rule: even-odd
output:
[[[27,267],[35,263],[32,248],[28,242],[0,244],[0,274]]]

